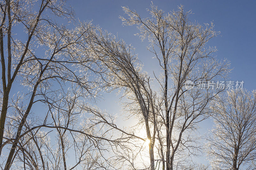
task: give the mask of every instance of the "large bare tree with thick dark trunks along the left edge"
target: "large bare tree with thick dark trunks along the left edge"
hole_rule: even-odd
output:
[[[7,150],[5,154],[1,154],[4,160],[1,162],[1,166],[8,170],[14,162],[22,158],[24,168],[26,164],[35,169],[40,169],[40,167],[45,169],[46,166],[50,168],[50,165],[45,164],[46,161],[40,149],[44,146],[48,151],[49,158],[47,160],[53,161],[51,167],[66,169],[65,152],[70,146],[70,141],[66,140],[67,131],[82,135],[73,137],[74,141],[84,139],[83,146],[87,146],[88,142],[86,141],[92,142],[95,139],[96,142],[92,142],[91,145],[94,148],[100,148],[100,142],[97,141],[105,140],[104,137],[100,137],[100,133],[99,136],[87,133],[88,129],[86,128],[68,128],[75,120],[70,120],[69,110],[63,110],[63,106],[61,106],[64,101],[60,102],[61,97],[65,99],[64,95],[68,95],[65,93],[68,88],[74,89],[73,93],[79,94],[80,98],[83,97],[87,101],[93,100],[97,96],[100,82],[97,78],[94,79],[92,74],[100,73],[100,67],[90,58],[88,50],[85,48],[85,39],[88,37],[86,29],[90,28],[91,23],[85,24],[86,29],[79,25],[74,29],[69,29],[65,24],[57,23],[55,18],[58,17],[67,18],[65,22],[72,21],[74,23],[73,11],[65,5],[64,1],[42,0],[39,3],[29,0],[4,0],[0,2],[0,7],[2,66],[0,153],[4,147]],[[24,37],[28,37],[25,40],[17,38],[17,34],[22,35],[21,28],[23,28]],[[22,85],[24,89],[13,88],[13,84]],[[17,100],[14,97],[9,97],[9,94],[15,93],[17,96],[20,95]],[[72,106],[71,101],[69,107]],[[67,106],[67,103],[68,101],[64,106]],[[35,104],[37,107],[39,106],[38,109],[33,107]],[[36,116],[33,121],[31,116],[34,111],[32,109],[42,113],[44,111],[42,108],[45,106],[49,107],[48,113],[46,115],[36,114],[42,115],[42,117]],[[53,110],[54,112],[58,110],[60,117],[55,117]],[[50,121],[47,117],[50,115],[52,122],[49,125],[46,122]],[[9,118],[10,121],[6,122],[6,118]],[[66,121],[60,124],[63,120]],[[7,128],[5,128],[6,124]],[[52,149],[51,145],[48,145],[51,143],[37,141],[40,138],[47,140],[46,137],[49,137],[42,135],[44,132],[40,132],[40,130],[43,128],[57,130],[58,139],[60,139],[57,149]],[[45,131],[49,132],[49,130]],[[92,131],[89,130],[89,132]],[[111,139],[109,141],[113,142]],[[30,144],[34,144],[33,147],[30,147]],[[65,148],[63,148],[64,145]],[[23,156],[20,155],[20,152]],[[53,152],[56,152],[55,155]],[[81,152],[83,156],[85,151],[75,149],[74,152]],[[90,153],[92,154],[92,152]],[[60,155],[62,156],[60,157]],[[41,166],[38,165],[37,156],[40,156]],[[77,157],[78,160],[82,156]],[[60,165],[61,160],[63,166]],[[77,163],[81,162],[82,160],[77,161]],[[97,161],[94,162],[97,163]]]

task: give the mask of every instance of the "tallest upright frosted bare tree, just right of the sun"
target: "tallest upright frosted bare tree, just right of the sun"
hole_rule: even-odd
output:
[[[159,76],[154,73],[161,91],[157,94],[156,107],[157,116],[161,118],[156,122],[158,153],[163,169],[173,170],[175,155],[176,158],[184,155],[177,152],[188,149],[195,142],[189,130],[195,130],[198,122],[211,115],[209,103],[223,91],[204,88],[188,91],[184,88],[186,80],[202,85],[200,82],[205,84],[226,78],[229,63],[219,62],[212,56],[215,47],[206,48],[207,42],[219,34],[214,31],[213,23],[200,25],[191,22],[188,19],[191,11],[184,12],[183,6],[177,11],[164,13],[152,4],[148,18],[141,18],[128,7],[123,7],[123,10],[128,16],[120,16],[123,24],[137,25],[138,35],[142,41],[148,38],[148,50],[155,55],[163,70]]]

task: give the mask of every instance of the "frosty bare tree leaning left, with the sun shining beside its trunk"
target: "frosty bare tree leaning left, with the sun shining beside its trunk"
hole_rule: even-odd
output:
[[[109,87],[108,92],[115,89],[124,90],[123,96],[130,100],[130,103],[125,105],[126,108],[129,107],[128,114],[137,114],[143,118],[142,121],[145,123],[147,139],[149,140],[150,169],[155,169],[155,93],[150,88],[150,78],[141,72],[137,56],[132,53],[133,48],[131,46],[116,39],[113,34],[102,31],[101,28],[92,29],[92,33],[89,34],[91,36],[87,43],[91,48],[91,55],[101,61],[102,67],[105,66],[106,68],[104,69],[106,70],[104,81]],[[153,123],[151,124],[151,122]],[[153,125],[152,130],[151,125]],[[140,140],[147,140],[138,137],[138,135],[135,136],[133,133],[129,135]]]

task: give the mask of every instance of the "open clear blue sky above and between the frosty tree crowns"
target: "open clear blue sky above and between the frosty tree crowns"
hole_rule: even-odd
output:
[[[124,39],[127,44],[132,44],[136,48],[136,53],[140,61],[144,64],[144,70],[152,74],[157,69],[158,64],[152,58],[152,54],[146,49],[147,41],[141,42],[136,26],[122,26],[119,15],[123,15],[121,6],[128,6],[136,10],[142,18],[148,17],[146,11],[150,7],[151,1],[83,1],[71,0],[68,3],[73,6],[76,18],[81,21],[93,20],[93,24],[99,24],[108,32],[117,34],[118,38]],[[217,58],[227,58],[231,61],[231,80],[244,81],[244,88],[248,90],[256,89],[255,73],[255,39],[256,39],[256,1],[153,1],[158,9],[165,12],[176,10],[177,6],[184,5],[185,11],[192,10],[190,20],[199,23],[215,24],[215,30],[220,31],[220,36],[212,39],[208,45],[217,46]],[[115,94],[107,94],[105,100],[100,103],[101,109],[106,109],[110,113],[118,113],[121,107],[118,106],[118,97]],[[111,106],[111,107],[109,107]],[[121,111],[122,112],[122,111]],[[120,120],[120,122],[123,122]],[[123,124],[125,125],[125,123]],[[212,127],[211,120],[202,123],[202,133]],[[199,159],[197,159],[199,160]]]

